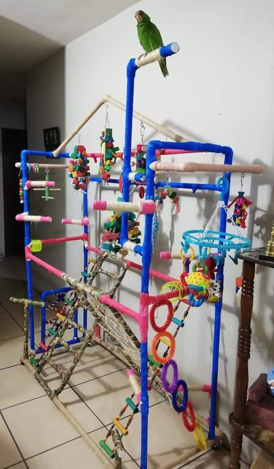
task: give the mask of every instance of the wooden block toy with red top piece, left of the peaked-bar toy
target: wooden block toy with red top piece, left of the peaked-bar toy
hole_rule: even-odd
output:
[[[86,148],[83,145],[75,145],[73,153],[70,154],[70,165],[68,177],[72,178],[72,186],[75,191],[86,190],[89,183],[90,167]]]

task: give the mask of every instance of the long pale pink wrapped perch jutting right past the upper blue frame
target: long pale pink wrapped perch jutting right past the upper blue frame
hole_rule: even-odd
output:
[[[152,171],[179,171],[179,172],[251,172],[260,174],[262,165],[215,165],[211,163],[161,163],[153,161],[149,165]]]

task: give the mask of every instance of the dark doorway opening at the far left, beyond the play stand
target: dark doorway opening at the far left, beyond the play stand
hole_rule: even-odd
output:
[[[4,194],[5,256],[24,255],[23,222],[15,220],[17,213],[23,212],[19,198],[19,169],[15,163],[20,161],[20,153],[27,148],[26,130],[2,128],[2,164]]]

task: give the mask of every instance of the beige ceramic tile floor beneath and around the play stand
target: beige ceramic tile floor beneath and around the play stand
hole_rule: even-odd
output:
[[[9,297],[25,295],[23,278],[22,261],[12,258],[0,263],[0,469],[75,469],[77,466],[100,469],[103,466],[82,437],[19,362],[23,350],[23,309],[9,302]],[[67,367],[70,357],[60,351],[55,360]],[[44,377],[50,387],[59,382],[49,365],[45,367]],[[60,400],[98,442],[129,394],[125,364],[95,345],[86,350]],[[150,393],[149,418],[149,468],[170,467],[171,460],[180,461],[192,450],[193,438],[183,430],[180,416],[154,390]],[[166,431],[159,432],[163,421]],[[140,467],[139,424],[137,415],[126,439],[125,469]],[[191,463],[177,468],[224,469],[228,468],[228,462],[228,451],[220,448],[209,450],[204,456],[197,455]]]

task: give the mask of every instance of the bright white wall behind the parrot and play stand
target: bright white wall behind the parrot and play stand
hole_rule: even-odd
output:
[[[129,58],[141,54],[137,40],[134,13],[137,8],[148,12],[160,28],[164,43],[177,41],[180,52],[168,59],[170,76],[163,78],[157,64],[137,72],[135,108],[161,124],[190,135],[193,140],[229,145],[234,150],[235,163],[263,161],[273,169],[273,70],[274,70],[274,3],[271,0],[144,0],[107,21],[65,49],[63,83],[57,56],[36,67],[28,74],[28,136],[30,147],[43,148],[42,128],[59,124],[68,133],[85,116],[103,93],[125,101],[126,73]],[[61,80],[61,82],[60,82]],[[48,89],[54,83],[64,87],[63,108],[58,96]],[[61,100],[62,101],[62,100]],[[64,112],[64,120],[60,115]],[[39,118],[38,118],[39,116]],[[124,114],[110,106],[110,123],[114,139],[120,148],[124,139]],[[89,151],[99,149],[99,135],[104,127],[104,109],[81,131],[81,141]],[[146,129],[146,141],[161,138]],[[165,140],[165,138],[164,138]],[[75,138],[68,150],[71,151]],[[139,123],[134,123],[133,146],[139,143]],[[206,161],[220,161],[220,157],[206,155]],[[195,160],[197,160],[195,156]],[[92,172],[97,168],[92,163]],[[270,170],[269,170],[270,171]],[[176,176],[174,176],[176,177]],[[181,180],[214,182],[215,177],[199,175]],[[249,214],[249,235],[253,246],[261,246],[269,238],[273,221],[273,173],[268,177],[245,178],[245,192],[253,205]],[[231,197],[239,190],[239,176],[232,177]],[[119,194],[102,190],[103,198]],[[157,250],[176,251],[180,248],[182,232],[205,226],[214,208],[212,194],[181,192],[181,214],[171,216],[169,200],[161,214]],[[99,189],[91,185],[92,198]],[[66,196],[66,197],[65,197]],[[58,195],[59,197],[59,195]],[[75,195],[67,179],[61,202],[63,216],[81,216],[81,199]],[[268,212],[268,213],[267,213]],[[107,215],[102,214],[102,221]],[[100,217],[90,213],[91,244],[98,244]],[[56,233],[58,224],[51,227]],[[56,228],[55,228],[56,227]],[[44,228],[44,226],[43,226]],[[54,229],[56,232],[54,232]],[[67,233],[79,233],[68,227]],[[45,258],[54,257],[54,264],[73,276],[81,270],[82,250],[73,244],[57,250],[47,250]],[[50,254],[50,253],[54,254]],[[63,256],[63,257],[62,257]],[[65,262],[60,265],[60,260]],[[240,263],[241,264],[241,263]],[[179,277],[180,262],[159,263],[153,266],[162,272]],[[241,265],[228,260],[224,292],[220,343],[220,418],[219,424],[229,436],[228,413],[232,409],[239,309],[234,305],[235,277]],[[47,276],[48,278],[48,276]],[[102,285],[102,284],[101,284]],[[134,287],[132,287],[134,285]],[[151,282],[151,291],[160,291],[160,284]],[[139,276],[128,274],[119,294],[121,301],[137,306]],[[264,271],[255,279],[253,337],[251,344],[251,382],[260,372],[273,365],[273,276]],[[181,376],[189,383],[209,383],[213,334],[213,309],[204,306],[193,309],[187,325],[177,341],[176,359]],[[134,326],[133,326],[134,327]],[[152,337],[152,335],[151,335]],[[245,443],[244,458],[251,460],[251,445]]]

